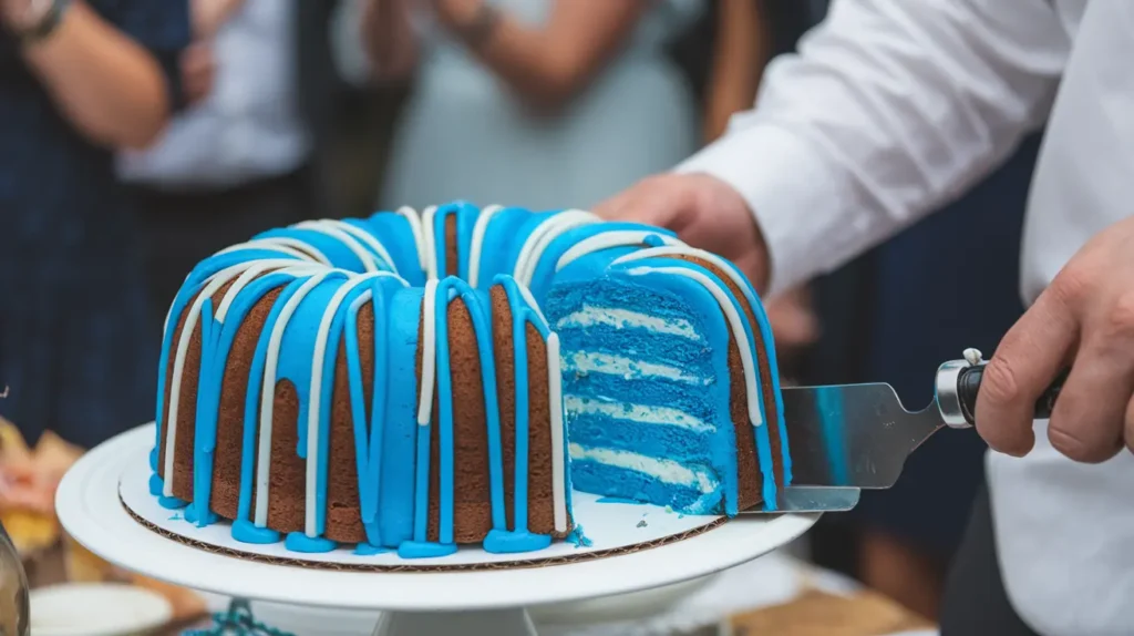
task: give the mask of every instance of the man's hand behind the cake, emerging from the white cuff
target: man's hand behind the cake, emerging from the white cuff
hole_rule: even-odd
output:
[[[649,177],[602,202],[594,212],[604,219],[670,229],[693,247],[733,261],[756,289],[768,287],[768,247],[755,218],[739,193],[716,177]]]

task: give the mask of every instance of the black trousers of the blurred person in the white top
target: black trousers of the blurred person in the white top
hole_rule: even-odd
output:
[[[325,217],[311,168],[222,190],[134,187],[150,292],[152,330],[193,268],[213,253],[265,230]]]

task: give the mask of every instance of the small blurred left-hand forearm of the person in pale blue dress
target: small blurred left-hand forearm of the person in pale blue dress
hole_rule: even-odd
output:
[[[408,0],[366,0],[361,28],[378,79],[401,79],[414,71],[418,42]]]

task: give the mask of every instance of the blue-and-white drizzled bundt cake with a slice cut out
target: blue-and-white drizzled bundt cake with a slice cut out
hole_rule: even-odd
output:
[[[527,552],[572,532],[573,487],[773,509],[781,410],[731,263],[583,211],[403,209],[270,230],[188,274],[150,489],[298,552]]]

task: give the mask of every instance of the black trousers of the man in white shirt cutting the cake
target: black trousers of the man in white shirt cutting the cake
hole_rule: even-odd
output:
[[[983,485],[946,580],[941,636],[1039,636],[1008,601],[997,560],[988,487]]]

